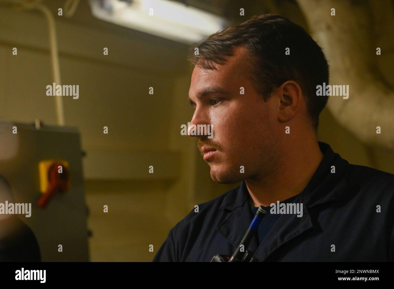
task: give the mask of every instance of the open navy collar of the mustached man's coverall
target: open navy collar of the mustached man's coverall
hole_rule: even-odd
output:
[[[284,243],[313,227],[309,208],[344,199],[354,191],[357,182],[348,178],[348,161],[333,152],[326,143],[319,142],[319,147],[324,157],[307,187],[293,200],[295,203],[303,203],[303,217],[299,218],[295,214],[282,215],[261,244],[253,238],[248,250],[255,252],[255,258],[259,261],[264,261]],[[335,167],[335,173],[331,172],[334,169],[332,166]],[[220,209],[230,210],[231,214],[216,230],[226,237],[234,248],[240,243],[253,219],[249,198],[246,183],[242,181],[239,187],[225,196],[220,206]]]

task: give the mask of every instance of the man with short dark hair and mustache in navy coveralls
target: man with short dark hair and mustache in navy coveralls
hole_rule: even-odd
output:
[[[231,256],[259,206],[267,213],[243,249],[257,261],[393,261],[394,175],[350,165],[317,140],[327,96],[316,86],[329,80],[318,44],[262,15],[198,48],[190,126],[214,130],[197,136],[212,179],[242,183],[178,222],[153,261]]]

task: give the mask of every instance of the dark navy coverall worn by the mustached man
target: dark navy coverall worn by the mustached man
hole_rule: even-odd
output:
[[[247,249],[260,262],[394,261],[394,175],[351,165],[326,143],[319,146],[322,162],[292,198],[303,204],[303,216],[281,215],[262,242],[256,237]],[[216,254],[231,256],[254,217],[249,198],[243,181],[199,204],[198,213],[193,208],[170,230],[153,261],[209,262]]]

